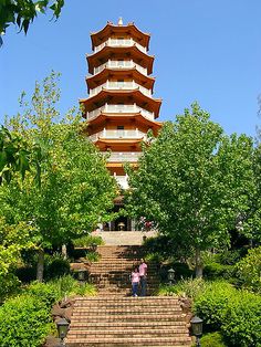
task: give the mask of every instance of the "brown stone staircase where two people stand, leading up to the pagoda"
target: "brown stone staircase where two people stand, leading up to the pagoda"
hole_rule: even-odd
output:
[[[129,274],[142,246],[100,246],[98,252],[102,257],[92,264],[90,276],[98,296],[75,298],[66,346],[191,346],[178,298],[130,296]],[[159,284],[157,274],[157,264],[149,263],[148,294]]]

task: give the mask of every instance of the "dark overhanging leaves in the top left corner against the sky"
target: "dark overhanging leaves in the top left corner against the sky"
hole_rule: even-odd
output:
[[[29,25],[38,17],[38,12],[46,13],[48,10],[51,10],[53,17],[58,19],[63,6],[64,0],[2,0],[0,3],[0,34],[2,35],[10,24],[18,25],[20,31],[27,33]]]

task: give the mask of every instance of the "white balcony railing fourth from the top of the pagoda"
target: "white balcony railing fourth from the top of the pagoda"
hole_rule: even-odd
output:
[[[108,105],[105,104],[103,107],[96,108],[92,112],[87,112],[86,118],[92,119],[100,115],[101,113],[111,113],[111,114],[118,114],[118,113],[139,113],[150,120],[154,120],[154,112],[149,112],[147,109],[144,109],[142,107],[138,107],[136,104],[134,105]]]

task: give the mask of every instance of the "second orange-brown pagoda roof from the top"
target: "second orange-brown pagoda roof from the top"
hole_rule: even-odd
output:
[[[86,54],[88,63],[88,73],[93,74],[94,67],[106,63],[109,59],[129,59],[146,67],[148,74],[153,72],[154,55],[142,52],[135,44],[129,46],[109,46],[105,45],[101,51],[93,54]]]

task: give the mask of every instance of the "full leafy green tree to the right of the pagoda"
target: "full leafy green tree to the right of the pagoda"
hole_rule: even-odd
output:
[[[201,251],[229,243],[230,228],[248,208],[252,187],[252,141],[230,138],[192,105],[144,146],[138,169],[128,170],[130,210],[157,222],[202,275]],[[246,204],[246,206],[244,206]]]

